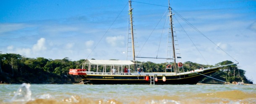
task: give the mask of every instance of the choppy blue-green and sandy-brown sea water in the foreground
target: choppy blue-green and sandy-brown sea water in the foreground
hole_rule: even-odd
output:
[[[255,85],[0,84],[0,104],[256,104]]]

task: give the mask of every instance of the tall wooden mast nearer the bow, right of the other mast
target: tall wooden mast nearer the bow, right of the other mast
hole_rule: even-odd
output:
[[[176,67],[176,56],[175,56],[175,47],[174,47],[174,36],[173,36],[173,30],[172,30],[172,10],[171,10],[171,7],[170,7],[170,0],[169,0],[169,16],[170,16],[170,25],[171,25],[171,34],[172,34],[172,50],[173,50],[173,60],[174,60],[174,72],[177,72],[177,67]]]

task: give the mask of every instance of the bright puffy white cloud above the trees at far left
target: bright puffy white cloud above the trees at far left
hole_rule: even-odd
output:
[[[45,38],[40,38],[37,40],[37,44],[35,44],[32,47],[33,52],[39,52],[39,51],[44,51],[47,48],[45,47]]]

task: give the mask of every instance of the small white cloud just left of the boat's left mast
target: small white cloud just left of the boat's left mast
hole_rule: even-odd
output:
[[[125,44],[124,39],[125,39],[124,36],[106,37],[107,43],[113,47],[123,46]]]

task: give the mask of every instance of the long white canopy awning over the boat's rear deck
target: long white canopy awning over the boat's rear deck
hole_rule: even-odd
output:
[[[86,64],[95,64],[95,65],[131,65],[134,64],[129,60],[86,60]]]

